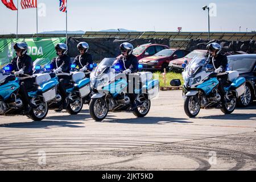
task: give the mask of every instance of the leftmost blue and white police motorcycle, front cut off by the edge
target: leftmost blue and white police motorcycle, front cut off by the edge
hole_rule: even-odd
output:
[[[9,65],[0,69],[0,115],[22,115],[24,104],[18,94],[19,78],[15,77]],[[39,75],[24,75],[33,78],[33,88],[28,90],[28,97],[33,106],[27,117],[34,121],[41,121],[48,113],[48,103],[55,98],[57,81],[51,77]],[[25,77],[23,77],[25,78]]]

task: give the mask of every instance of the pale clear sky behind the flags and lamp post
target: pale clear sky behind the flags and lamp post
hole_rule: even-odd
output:
[[[68,30],[208,31],[208,13],[201,7],[210,3],[216,5],[211,6],[210,31],[238,32],[240,26],[242,32],[256,30],[255,0],[68,0]],[[59,0],[38,0],[38,5],[43,5],[38,8],[38,32],[65,30]],[[19,34],[35,34],[36,9],[20,8],[18,27]],[[10,33],[16,33],[16,11],[0,2],[0,34]]]

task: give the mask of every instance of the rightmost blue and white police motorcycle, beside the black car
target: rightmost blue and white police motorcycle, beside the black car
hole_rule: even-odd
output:
[[[237,98],[245,92],[245,78],[238,78],[237,71],[227,71],[228,82],[224,85],[226,103],[221,103],[217,73],[214,73],[213,65],[208,63],[209,57],[194,57],[189,64],[187,61],[183,64],[184,111],[188,117],[196,117],[201,108],[216,108],[224,114],[231,114]]]

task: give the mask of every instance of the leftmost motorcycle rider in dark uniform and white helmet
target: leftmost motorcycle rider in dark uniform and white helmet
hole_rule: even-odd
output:
[[[33,87],[33,63],[31,57],[27,55],[28,46],[26,42],[15,43],[14,49],[16,56],[7,66],[9,66],[11,70],[15,71],[14,75],[20,80],[18,93],[22,96],[22,100],[24,102],[23,114],[28,114],[33,106],[30,104],[28,97],[28,92],[30,92],[30,89]]]

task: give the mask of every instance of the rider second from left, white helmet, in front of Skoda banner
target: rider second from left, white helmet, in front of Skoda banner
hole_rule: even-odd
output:
[[[65,86],[67,86],[71,80],[69,76],[69,73],[71,70],[71,59],[67,55],[68,53],[67,44],[64,44],[64,43],[56,44],[55,50],[56,50],[57,57],[52,59],[51,68],[59,78],[58,89],[60,90],[61,102],[62,102],[62,108],[60,109],[66,109],[68,106],[68,101],[67,101],[68,95],[65,90]]]

